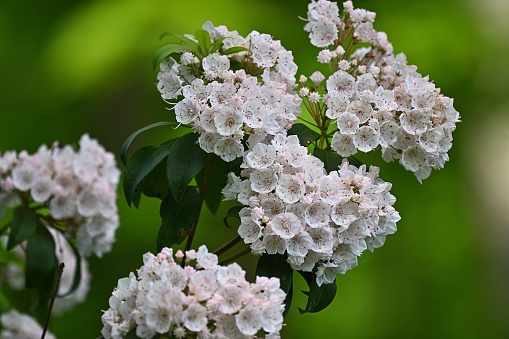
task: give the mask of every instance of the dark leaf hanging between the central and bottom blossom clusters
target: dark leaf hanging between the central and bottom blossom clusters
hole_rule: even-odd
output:
[[[285,314],[290,309],[293,292],[293,269],[286,261],[286,255],[263,254],[256,265],[256,275],[279,278],[280,288],[286,293]]]

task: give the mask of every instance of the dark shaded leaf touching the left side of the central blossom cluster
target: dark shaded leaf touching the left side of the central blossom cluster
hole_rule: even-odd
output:
[[[212,163],[209,166],[205,166],[203,170],[196,175],[196,183],[199,187],[203,186],[207,169],[209,175],[207,178],[207,185],[205,187],[205,204],[212,214],[217,212],[219,205],[223,199],[222,190],[228,182],[228,173],[230,172],[230,163],[221,160],[215,154],[210,155],[212,157]]]

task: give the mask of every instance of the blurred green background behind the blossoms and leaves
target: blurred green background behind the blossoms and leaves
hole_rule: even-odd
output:
[[[455,98],[463,122],[445,169],[423,185],[379,154],[362,157],[393,182],[399,231],[359,267],[338,276],[333,304],[300,315],[303,280],[283,338],[502,338],[509,335],[509,4],[503,0],[354,1],[377,13],[396,53]],[[34,152],[87,132],[118,154],[138,128],[168,120],[155,88],[152,53],[161,32],[193,33],[206,20],[242,35],[270,33],[292,50],[299,74],[317,69],[302,0],[49,0],[0,3],[0,150]],[[133,149],[168,138],[159,128]],[[59,338],[96,338],[119,278],[155,251],[158,201],[129,209],[113,252],[92,259],[87,301],[52,319]],[[206,212],[195,245],[214,250],[234,237]],[[241,264],[254,275],[256,259]],[[251,265],[251,266],[250,266]]]

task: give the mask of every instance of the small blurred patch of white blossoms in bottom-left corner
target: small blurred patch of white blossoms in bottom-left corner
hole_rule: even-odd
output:
[[[10,310],[2,314],[0,317],[2,323],[2,339],[40,339],[43,328],[34,318],[28,314],[19,313],[16,310]],[[45,338],[55,339],[55,336],[49,331],[46,332]]]

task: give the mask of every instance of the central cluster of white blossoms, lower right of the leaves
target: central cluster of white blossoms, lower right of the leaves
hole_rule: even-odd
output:
[[[278,134],[271,144],[246,152],[241,179],[229,174],[225,200],[247,207],[240,211],[239,235],[255,253],[285,254],[293,269],[316,270],[317,284],[357,265],[396,231],[399,213],[392,185],[345,159],[329,174],[296,136]]]

